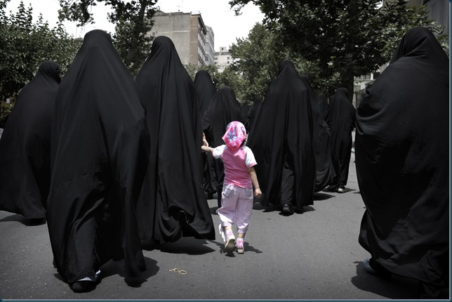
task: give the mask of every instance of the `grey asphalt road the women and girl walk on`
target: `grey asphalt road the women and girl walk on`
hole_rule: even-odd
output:
[[[347,191],[318,192],[303,214],[281,216],[255,204],[245,253],[227,256],[222,239],[182,238],[144,251],[147,273],[129,286],[122,261],[101,268],[93,289],[74,293],[52,265],[47,225],[0,211],[1,299],[415,299],[417,282],[364,271],[358,234],[364,203],[354,157]],[[208,200],[215,225],[216,199]],[[185,270],[185,275],[172,271]]]

